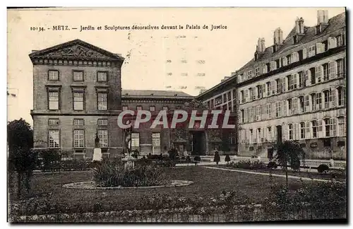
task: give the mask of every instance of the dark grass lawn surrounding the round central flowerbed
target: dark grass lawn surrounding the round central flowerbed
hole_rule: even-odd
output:
[[[140,200],[144,196],[155,194],[203,197],[203,201],[208,201],[211,197],[219,196],[223,190],[234,190],[246,194],[254,203],[261,203],[265,196],[270,195],[269,177],[263,175],[212,170],[201,166],[164,168],[164,170],[172,180],[191,180],[194,183],[186,187],[153,189],[66,189],[62,187],[63,184],[91,180],[90,171],[35,174],[32,177],[31,193],[27,198],[36,197],[38,201],[49,203],[49,209],[51,209],[50,206],[60,206],[48,210],[49,212],[35,212],[44,214],[58,211],[91,212],[97,203],[100,204],[101,211],[134,209],[140,205]],[[282,177],[273,177],[273,181],[285,184],[285,178]],[[299,180],[289,180],[289,182],[289,189],[297,189],[301,186]],[[51,195],[47,197],[49,193]],[[10,197],[11,204],[17,202],[15,194],[10,194]]]

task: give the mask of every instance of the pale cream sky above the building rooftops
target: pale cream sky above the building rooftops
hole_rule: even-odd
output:
[[[32,124],[32,63],[28,54],[80,39],[126,58],[121,67],[123,89],[183,90],[198,95],[212,88],[253,58],[258,37],[273,45],[280,27],[284,38],[297,17],[304,25],[317,22],[317,11],[329,18],[345,8],[61,8],[8,10],[8,119]],[[45,30],[68,25],[78,30]],[[80,26],[95,30],[83,30]],[[130,30],[104,30],[104,26]],[[132,30],[133,25],[158,30]],[[162,29],[177,26],[178,29]],[[183,29],[179,28],[183,26]],[[189,25],[189,28],[186,28]],[[200,29],[193,29],[200,26]],[[203,29],[207,25],[208,29]],[[210,30],[212,25],[223,29]],[[102,30],[97,27],[102,26]],[[227,29],[225,29],[227,26]]]

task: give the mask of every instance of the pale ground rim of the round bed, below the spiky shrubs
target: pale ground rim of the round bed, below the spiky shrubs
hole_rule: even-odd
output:
[[[150,188],[158,188],[158,187],[181,187],[188,186],[193,182],[188,180],[172,180],[170,184],[159,185],[159,186],[141,186],[141,187],[99,187],[95,182],[76,182],[70,184],[64,184],[63,187],[68,189],[150,189]]]

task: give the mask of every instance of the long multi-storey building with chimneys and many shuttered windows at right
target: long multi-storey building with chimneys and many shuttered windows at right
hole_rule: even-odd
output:
[[[309,158],[346,158],[346,17],[317,17],[313,27],[297,18],[285,39],[275,29],[270,47],[259,38],[251,61],[197,97],[237,112],[238,155],[272,158],[273,143],[289,140]],[[225,85],[237,91],[230,108]]]

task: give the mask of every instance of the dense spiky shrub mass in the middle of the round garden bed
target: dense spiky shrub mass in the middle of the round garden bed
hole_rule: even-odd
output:
[[[169,182],[159,166],[136,164],[134,168],[125,168],[107,162],[93,169],[93,180],[98,187],[141,187]]]

